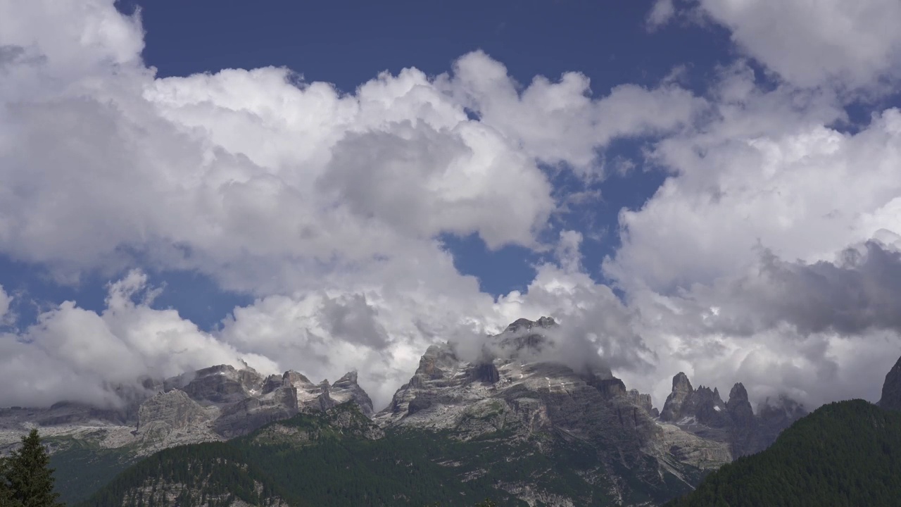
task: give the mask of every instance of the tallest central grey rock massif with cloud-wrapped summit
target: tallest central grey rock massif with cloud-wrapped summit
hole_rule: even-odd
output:
[[[681,477],[686,466],[713,467],[729,460],[722,444],[705,445],[676,427],[661,428],[651,415],[650,395],[628,391],[609,370],[577,372],[536,361],[553,345],[542,332],[552,326],[550,318],[517,320],[488,338],[486,350],[496,355],[471,362],[450,345],[430,346],[410,382],[375,420],[386,428],[449,430],[460,439],[501,434],[511,446],[534,443],[532,451],[520,452],[549,456],[577,446],[600,463],[585,480],[611,481],[619,498],[638,487],[630,481],[654,489],[664,475]],[[679,456],[669,452],[675,442],[686,449]],[[704,449],[695,448],[702,444]],[[542,493],[537,487],[526,480],[505,489]]]

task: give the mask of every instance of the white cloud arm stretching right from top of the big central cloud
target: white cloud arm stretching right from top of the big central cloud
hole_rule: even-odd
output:
[[[441,76],[438,85],[532,157],[569,164],[583,175],[597,171],[598,148],[614,138],[671,132],[690,124],[704,106],[669,84],[621,85],[595,100],[588,78],[578,72],[556,83],[539,76],[523,88],[480,51],[457,60],[452,77]]]

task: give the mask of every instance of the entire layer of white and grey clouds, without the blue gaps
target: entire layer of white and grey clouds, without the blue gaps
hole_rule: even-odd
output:
[[[901,7],[806,4],[661,2],[652,23],[713,20],[773,82],[737,60],[700,95],[668,81],[596,97],[578,72],[518,84],[481,51],[346,94],[291,69],[156,78],[140,19],[111,0],[0,2],[0,253],[64,283],[117,280],[99,314],[68,301],[0,327],[0,405],[109,402],[137,374],[241,360],[357,368],[379,405],[433,341],[542,315],[658,405],[678,371],[757,399],[875,400],[901,355],[901,112],[838,126],[851,91],[898,75]],[[547,168],[603,179],[623,137],[650,140],[642,162],[669,178],[620,214],[604,264],[619,298],[587,274],[582,234],[551,226],[566,196]],[[552,260],[495,300],[442,234]],[[257,299],[204,332],[151,307],[141,267]],[[0,318],[14,298],[0,291]]]

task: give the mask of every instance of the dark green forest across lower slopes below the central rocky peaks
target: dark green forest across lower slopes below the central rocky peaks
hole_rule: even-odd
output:
[[[528,481],[578,505],[605,506],[615,502],[611,471],[633,474],[620,463],[602,462],[594,445],[564,435],[540,433],[523,440],[498,430],[461,440],[452,432],[392,429],[383,438],[367,438],[379,431],[353,404],[298,415],[226,443],[162,451],[118,475],[81,505],[162,507],[159,494],[129,495],[177,483],[194,493],[191,498],[184,493],[180,507],[229,494],[250,503],[278,497],[298,507],[421,507],[435,502],[441,507],[524,507],[525,502],[500,486]],[[655,478],[657,485],[651,486],[634,480],[625,501],[663,502],[687,490],[669,475],[662,482]],[[253,484],[266,489],[256,493]],[[492,500],[478,503],[485,498]]]

